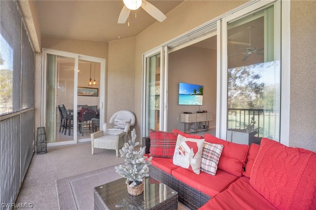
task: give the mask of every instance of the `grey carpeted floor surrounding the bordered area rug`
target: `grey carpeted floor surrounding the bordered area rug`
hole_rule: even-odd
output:
[[[94,149],[92,155],[90,142],[49,147],[45,154],[34,154],[16,204],[32,204],[33,210],[58,210],[56,180],[123,162],[115,150]],[[188,209],[179,204],[178,210]]]

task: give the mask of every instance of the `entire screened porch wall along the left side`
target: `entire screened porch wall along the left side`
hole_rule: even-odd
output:
[[[11,204],[34,152],[35,66],[16,1],[0,0],[0,8],[0,203]]]

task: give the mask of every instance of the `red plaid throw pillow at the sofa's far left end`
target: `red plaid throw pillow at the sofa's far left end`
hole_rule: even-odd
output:
[[[149,130],[150,155],[152,157],[173,158],[177,136],[176,133]]]

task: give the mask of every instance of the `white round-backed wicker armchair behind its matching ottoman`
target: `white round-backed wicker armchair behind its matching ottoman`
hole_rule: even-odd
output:
[[[124,142],[128,136],[130,126],[135,124],[135,115],[131,111],[122,110],[114,113],[109,123],[104,123],[103,131],[104,134],[116,135],[121,132],[125,132]],[[130,137],[128,136],[130,140]]]

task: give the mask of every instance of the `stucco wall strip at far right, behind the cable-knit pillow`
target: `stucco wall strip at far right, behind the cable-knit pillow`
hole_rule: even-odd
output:
[[[316,1],[291,1],[289,145],[316,152]]]

